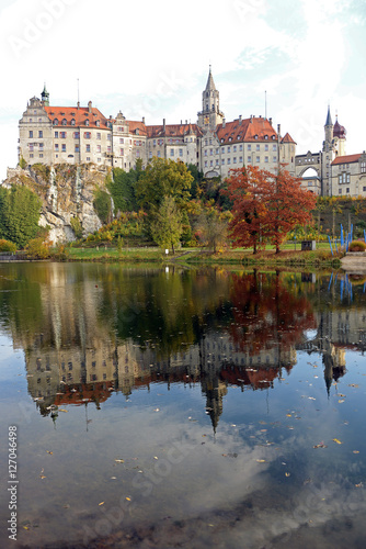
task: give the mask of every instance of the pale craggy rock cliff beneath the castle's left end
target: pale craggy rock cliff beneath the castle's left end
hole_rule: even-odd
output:
[[[93,202],[96,189],[108,192],[106,176],[108,168],[104,166],[39,164],[27,169],[9,169],[3,184],[24,184],[38,194],[43,203],[38,224],[50,227],[49,239],[56,244],[75,240],[76,224],[81,225],[82,236],[102,226]]]

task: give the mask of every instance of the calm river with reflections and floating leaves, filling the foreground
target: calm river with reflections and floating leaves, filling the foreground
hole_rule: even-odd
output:
[[[365,288],[2,264],[0,546],[364,548]]]

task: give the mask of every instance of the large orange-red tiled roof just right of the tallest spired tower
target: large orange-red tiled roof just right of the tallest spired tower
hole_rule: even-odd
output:
[[[217,136],[221,143],[275,141],[277,134],[267,119],[252,116],[250,119],[226,122],[217,126]]]

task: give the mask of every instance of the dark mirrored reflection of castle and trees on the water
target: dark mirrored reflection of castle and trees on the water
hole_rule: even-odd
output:
[[[341,299],[329,276],[32,269],[8,267],[0,310],[42,415],[100,407],[114,392],[128,397],[156,382],[199,384],[216,429],[229,385],[271,389],[306,351],[322,356],[329,391],[346,371],[346,348],[364,351],[363,294]]]

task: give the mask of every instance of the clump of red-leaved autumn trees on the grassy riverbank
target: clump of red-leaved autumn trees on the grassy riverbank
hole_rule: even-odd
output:
[[[233,247],[258,249],[272,243],[279,246],[296,225],[309,223],[317,198],[301,189],[301,180],[283,167],[278,173],[247,166],[232,170],[226,192],[233,202],[229,224]]]

